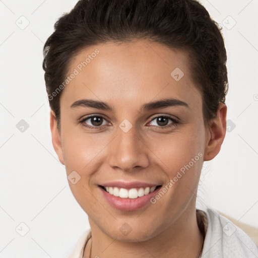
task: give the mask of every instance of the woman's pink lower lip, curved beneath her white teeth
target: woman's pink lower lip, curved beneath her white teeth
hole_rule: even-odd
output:
[[[160,187],[157,187],[153,192],[150,192],[146,196],[138,197],[135,199],[129,199],[129,198],[120,198],[116,196],[110,195],[107,191],[105,191],[102,187],[100,187],[100,190],[102,191],[104,197],[106,198],[107,202],[117,210],[121,211],[135,211],[143,208],[148,203],[151,203],[150,200],[156,195],[156,192],[160,189]]]

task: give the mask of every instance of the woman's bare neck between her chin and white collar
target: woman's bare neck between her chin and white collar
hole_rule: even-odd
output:
[[[194,257],[199,258],[204,238],[199,230],[196,210],[185,211],[172,225],[155,237],[139,242],[125,242],[113,239],[103,233],[90,219],[92,246],[90,258],[123,257]],[[86,252],[84,253],[86,255]],[[84,258],[89,258],[84,255]]]

